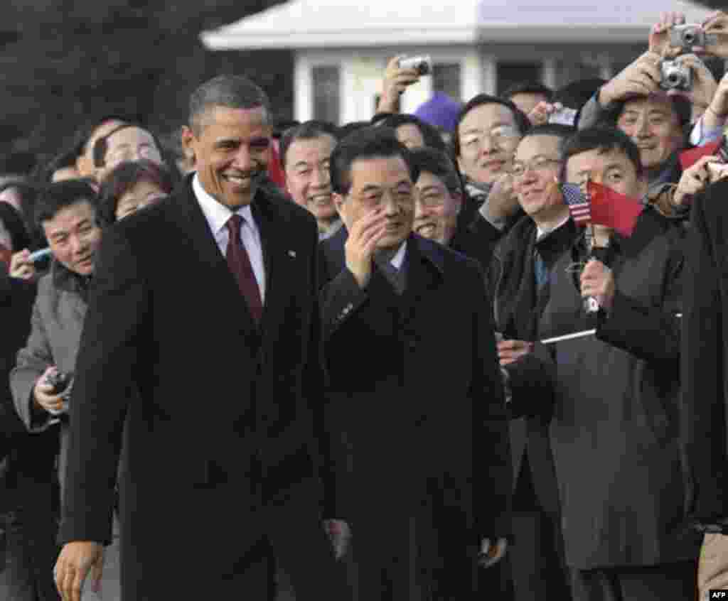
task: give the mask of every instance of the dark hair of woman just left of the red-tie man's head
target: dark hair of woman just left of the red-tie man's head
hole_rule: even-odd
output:
[[[174,188],[174,180],[166,167],[149,159],[125,161],[109,173],[98,192],[98,215],[106,226],[116,222],[116,207],[124,194],[140,182],[149,182],[167,194]]]

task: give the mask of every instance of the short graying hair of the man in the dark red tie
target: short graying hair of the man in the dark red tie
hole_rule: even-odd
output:
[[[240,75],[218,75],[199,86],[189,97],[189,127],[199,137],[202,118],[216,106],[225,108],[258,108],[266,119],[272,119],[270,100],[257,84]]]

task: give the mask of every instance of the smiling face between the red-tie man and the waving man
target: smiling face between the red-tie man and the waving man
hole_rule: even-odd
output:
[[[336,218],[331,197],[329,159],[336,146],[333,136],[298,138],[285,153],[285,185],[293,202],[308,209],[320,225]]]

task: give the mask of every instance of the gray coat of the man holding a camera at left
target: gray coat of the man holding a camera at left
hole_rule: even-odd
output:
[[[25,347],[17,353],[10,372],[10,389],[18,415],[31,432],[44,431],[60,418],[59,476],[63,478],[68,447],[68,417],[58,417],[39,408],[33,401],[33,387],[47,367],[73,373],[76,354],[86,315],[85,282],[60,263],[53,263],[49,274],[38,282],[33,305],[31,334]],[[63,490],[63,480],[61,480]]]

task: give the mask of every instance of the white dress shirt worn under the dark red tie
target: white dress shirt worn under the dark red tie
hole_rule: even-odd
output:
[[[205,219],[207,219],[207,225],[210,226],[210,231],[213,232],[215,242],[218,243],[218,248],[224,257],[227,252],[229,238],[227,222],[232,217],[233,211],[224,204],[217,202],[210,194],[207,194],[205,188],[202,188],[202,184],[199,183],[197,173],[192,178],[192,191],[194,191],[194,196],[197,198],[200,208],[202,208]],[[253,274],[256,275],[258,289],[261,291],[261,302],[265,303],[266,270],[263,262],[261,233],[258,231],[258,226],[256,226],[256,222],[253,219],[253,212],[250,210],[249,204],[246,204],[245,207],[240,207],[235,213],[243,218],[242,227],[240,228],[240,238],[242,239],[243,246],[245,246],[245,250],[248,251],[250,266],[253,267]]]

